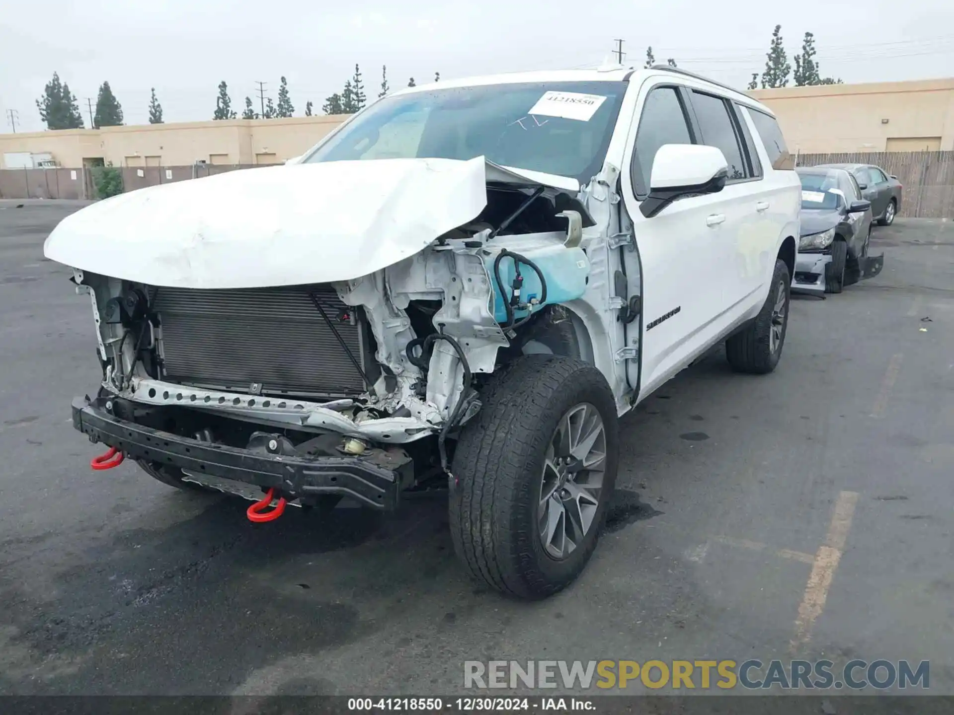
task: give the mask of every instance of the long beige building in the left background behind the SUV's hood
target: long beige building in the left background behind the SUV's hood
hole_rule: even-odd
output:
[[[225,119],[0,134],[0,157],[50,153],[57,166],[67,168],[100,162],[116,167],[279,164],[305,152],[346,118]]]

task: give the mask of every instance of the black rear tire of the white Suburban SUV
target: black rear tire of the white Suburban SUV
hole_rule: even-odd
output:
[[[776,269],[772,274],[769,295],[756,319],[745,330],[725,341],[725,357],[732,369],[739,373],[765,375],[771,373],[781,358],[781,349],[785,345],[785,333],[788,330],[790,286],[792,278],[788,266],[781,259],[776,260]],[[780,324],[776,306],[781,292]],[[773,339],[773,329],[778,328]]]

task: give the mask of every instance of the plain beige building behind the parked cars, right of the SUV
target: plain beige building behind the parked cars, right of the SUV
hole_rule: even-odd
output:
[[[754,90],[799,153],[954,150],[954,78]]]

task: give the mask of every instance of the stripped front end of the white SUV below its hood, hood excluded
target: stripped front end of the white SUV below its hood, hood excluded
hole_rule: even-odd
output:
[[[579,242],[592,221],[574,192],[480,169],[479,214],[353,278],[339,279],[360,256],[315,271],[334,279],[276,285],[74,268],[103,374],[95,398],[74,400],[74,426],[147,467],[299,503],[390,509],[443,479],[487,376],[546,343],[590,277]]]

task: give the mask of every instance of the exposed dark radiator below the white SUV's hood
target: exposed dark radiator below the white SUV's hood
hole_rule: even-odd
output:
[[[364,365],[363,323],[328,285],[239,290],[153,288],[162,325],[164,376],[207,387],[264,394],[352,395],[364,391],[309,297],[311,292]]]

